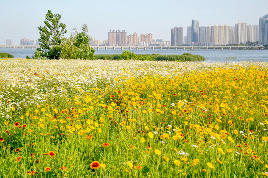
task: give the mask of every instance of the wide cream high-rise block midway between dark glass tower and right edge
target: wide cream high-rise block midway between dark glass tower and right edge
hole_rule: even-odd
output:
[[[212,25],[211,26],[211,43],[212,45],[228,45],[229,26]]]

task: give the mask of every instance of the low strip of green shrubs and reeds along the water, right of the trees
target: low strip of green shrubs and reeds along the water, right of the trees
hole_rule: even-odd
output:
[[[124,51],[122,54],[98,54],[96,59],[104,60],[147,60],[147,61],[203,61],[205,58],[200,55],[184,53],[182,55],[160,55],[160,54],[134,54]]]

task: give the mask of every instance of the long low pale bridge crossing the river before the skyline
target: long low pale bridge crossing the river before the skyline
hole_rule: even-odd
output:
[[[105,49],[105,50],[201,50],[201,49],[251,49],[251,48],[258,48],[263,49],[262,46],[91,46],[95,50]],[[40,48],[39,45],[0,45],[0,48],[3,49],[36,49]]]

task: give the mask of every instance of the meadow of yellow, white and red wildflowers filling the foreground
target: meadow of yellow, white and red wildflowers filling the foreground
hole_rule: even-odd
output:
[[[0,60],[0,177],[268,176],[268,63]]]

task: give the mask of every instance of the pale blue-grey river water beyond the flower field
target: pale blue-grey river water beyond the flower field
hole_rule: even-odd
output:
[[[12,54],[15,58],[26,58],[26,56],[34,55],[36,49],[0,49],[0,52],[6,52]],[[228,59],[229,62],[233,61],[259,61],[259,62],[268,62],[268,50],[136,50],[132,49],[130,52],[135,54],[163,54],[163,55],[172,55],[172,54],[183,54],[191,53],[196,55],[201,55],[205,57],[203,62],[226,62],[226,57],[236,57],[235,59]],[[96,50],[95,54],[121,54],[122,50],[120,49],[100,49]]]

